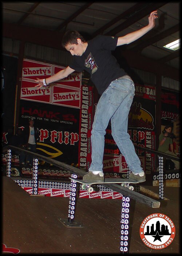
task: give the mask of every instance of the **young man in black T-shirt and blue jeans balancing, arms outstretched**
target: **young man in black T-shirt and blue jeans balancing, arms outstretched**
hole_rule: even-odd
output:
[[[151,12],[149,25],[123,37],[99,35],[90,41],[85,41],[77,31],[67,31],[63,36],[62,45],[74,56],[72,64],[47,80],[36,80],[39,83],[36,87],[40,88],[66,78],[75,70],[79,72],[86,70],[90,73],[91,80],[101,95],[91,132],[92,162],[89,172],[83,176],[84,181],[104,181],[102,163],[104,135],[110,119],[112,136],[131,170],[130,178],[138,182],[145,181],[141,162],[135,153],[130,135],[127,133],[128,114],[135,94],[134,82],[119,67],[111,50],[115,50],[116,46],[130,44],[142,37],[155,26],[156,18],[158,18],[157,11]]]

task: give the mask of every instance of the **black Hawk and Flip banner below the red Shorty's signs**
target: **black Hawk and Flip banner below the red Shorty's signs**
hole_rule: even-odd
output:
[[[78,162],[79,109],[20,101],[19,127],[33,117],[39,129],[37,153],[60,162]]]

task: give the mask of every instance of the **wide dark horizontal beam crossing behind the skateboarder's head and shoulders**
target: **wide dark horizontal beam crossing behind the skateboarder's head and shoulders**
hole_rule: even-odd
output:
[[[39,35],[35,37],[35,35]],[[37,45],[43,45],[51,48],[65,50],[61,45],[62,33],[46,29],[38,29],[35,27],[17,26],[12,23],[3,23],[3,37],[15,40],[31,42]],[[125,57],[131,68],[138,68],[155,74],[167,76],[169,78],[179,80],[179,70],[169,65],[160,63],[148,57],[139,55],[132,50],[123,50],[117,47],[119,54]]]

